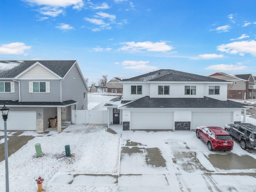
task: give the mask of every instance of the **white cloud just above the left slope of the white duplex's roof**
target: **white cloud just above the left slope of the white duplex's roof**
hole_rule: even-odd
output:
[[[123,61],[121,62],[122,66],[124,66],[124,69],[134,69],[134,70],[143,70],[143,71],[152,71],[158,69],[158,67],[155,66],[149,66],[149,61]],[[116,62],[115,64],[119,64],[119,62]]]

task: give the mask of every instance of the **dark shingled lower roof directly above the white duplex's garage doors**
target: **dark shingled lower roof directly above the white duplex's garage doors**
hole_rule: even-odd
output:
[[[245,108],[231,100],[221,101],[209,97],[204,98],[150,98],[145,96],[128,102],[120,108]]]

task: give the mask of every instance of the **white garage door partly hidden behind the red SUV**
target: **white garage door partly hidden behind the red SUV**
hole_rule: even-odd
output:
[[[233,112],[192,112],[191,129],[198,126],[218,126],[233,122]]]

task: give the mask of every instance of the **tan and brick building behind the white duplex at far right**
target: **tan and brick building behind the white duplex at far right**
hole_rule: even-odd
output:
[[[230,74],[217,72],[209,77],[232,82],[232,84],[228,84],[228,99],[256,98],[256,82],[252,74]]]

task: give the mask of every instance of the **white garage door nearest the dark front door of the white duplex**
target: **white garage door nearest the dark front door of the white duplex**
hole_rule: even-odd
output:
[[[131,112],[131,130],[172,130],[173,112]]]

